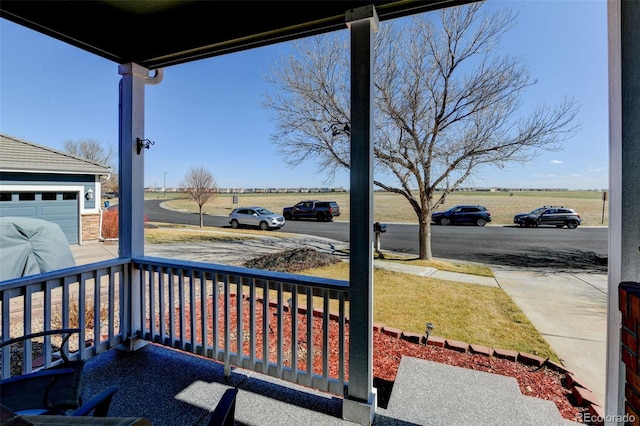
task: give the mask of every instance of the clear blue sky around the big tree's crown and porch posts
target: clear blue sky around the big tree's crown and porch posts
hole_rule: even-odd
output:
[[[581,130],[561,152],[527,165],[481,170],[474,185],[522,188],[608,188],[606,0],[487,0],[511,8],[518,24],[503,49],[522,55],[539,82],[528,106],[581,105]],[[312,164],[290,168],[270,142],[270,112],[261,106],[264,75],[288,43],[168,67],[146,88],[145,185],[177,186],[192,166],[211,171],[220,187],[348,188],[331,184]],[[0,132],[62,150],[67,140],[117,147],[118,64],[0,20]],[[166,172],[166,175],[165,175]]]

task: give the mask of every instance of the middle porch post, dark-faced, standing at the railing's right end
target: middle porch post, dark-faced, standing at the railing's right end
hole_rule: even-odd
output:
[[[351,30],[351,174],[349,225],[349,387],[342,417],[373,422],[373,6],[346,14]]]

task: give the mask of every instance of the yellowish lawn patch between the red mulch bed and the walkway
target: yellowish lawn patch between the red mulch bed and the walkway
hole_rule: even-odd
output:
[[[347,280],[349,265],[339,263],[301,272]],[[376,268],[373,320],[403,331],[433,334],[493,348],[526,352],[559,362],[553,349],[500,288],[485,287]],[[336,309],[336,306],[332,306]]]

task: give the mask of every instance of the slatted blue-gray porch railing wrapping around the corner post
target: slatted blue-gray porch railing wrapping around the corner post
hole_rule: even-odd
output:
[[[345,281],[172,259],[114,259],[0,283],[0,330],[6,340],[80,328],[72,359],[142,339],[221,361],[227,374],[237,366],[342,395],[348,299]],[[58,362],[50,339],[43,367]],[[32,344],[23,352],[22,372],[38,369]],[[16,374],[8,346],[0,356],[1,377]]]

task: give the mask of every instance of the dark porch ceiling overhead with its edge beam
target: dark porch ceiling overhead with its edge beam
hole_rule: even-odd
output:
[[[369,4],[383,21],[470,1],[3,0],[0,16],[118,64],[156,69],[343,29],[345,11]]]

